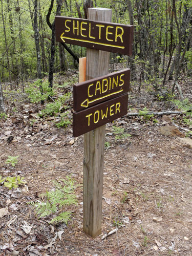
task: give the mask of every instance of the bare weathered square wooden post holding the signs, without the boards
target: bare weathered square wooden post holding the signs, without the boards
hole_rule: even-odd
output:
[[[112,10],[89,8],[88,19],[111,22]],[[87,48],[86,80],[109,73],[109,52]],[[101,233],[105,125],[84,135],[83,231]]]

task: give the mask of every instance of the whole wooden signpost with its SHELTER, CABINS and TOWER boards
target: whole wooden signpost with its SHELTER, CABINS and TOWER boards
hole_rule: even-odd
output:
[[[55,17],[56,40],[87,47],[86,81],[74,86],[73,135],[84,134],[83,231],[101,233],[105,125],[127,113],[130,69],[109,74],[109,52],[132,53],[133,26],[111,23],[112,10],[88,19]]]

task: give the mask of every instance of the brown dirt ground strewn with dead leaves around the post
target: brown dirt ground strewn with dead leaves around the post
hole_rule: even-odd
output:
[[[181,118],[168,116],[174,117]],[[83,136],[74,139],[72,126],[44,122],[34,130],[10,118],[1,121],[0,176],[25,177],[29,191],[0,187],[0,209],[8,210],[0,219],[0,255],[192,255],[191,149],[177,135],[160,133],[168,121],[157,119],[124,117],[106,125],[102,234],[95,239],[82,231]],[[132,136],[115,140],[113,125]],[[15,167],[5,163],[8,155],[19,156]],[[67,175],[75,180],[78,204],[67,207],[68,225],[49,225],[27,202],[40,200],[52,181]]]

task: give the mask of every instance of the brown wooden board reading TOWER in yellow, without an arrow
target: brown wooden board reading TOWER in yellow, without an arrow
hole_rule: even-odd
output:
[[[97,127],[126,115],[128,94],[91,106],[80,112],[73,112],[73,136],[78,137]]]

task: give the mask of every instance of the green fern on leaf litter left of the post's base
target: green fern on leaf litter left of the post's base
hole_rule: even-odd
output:
[[[69,176],[67,179],[61,179],[60,182],[54,181],[55,189],[42,194],[44,201],[29,202],[35,209],[39,218],[44,218],[56,214],[50,223],[68,223],[71,212],[65,211],[65,206],[76,204],[76,196],[74,194],[74,181]]]

